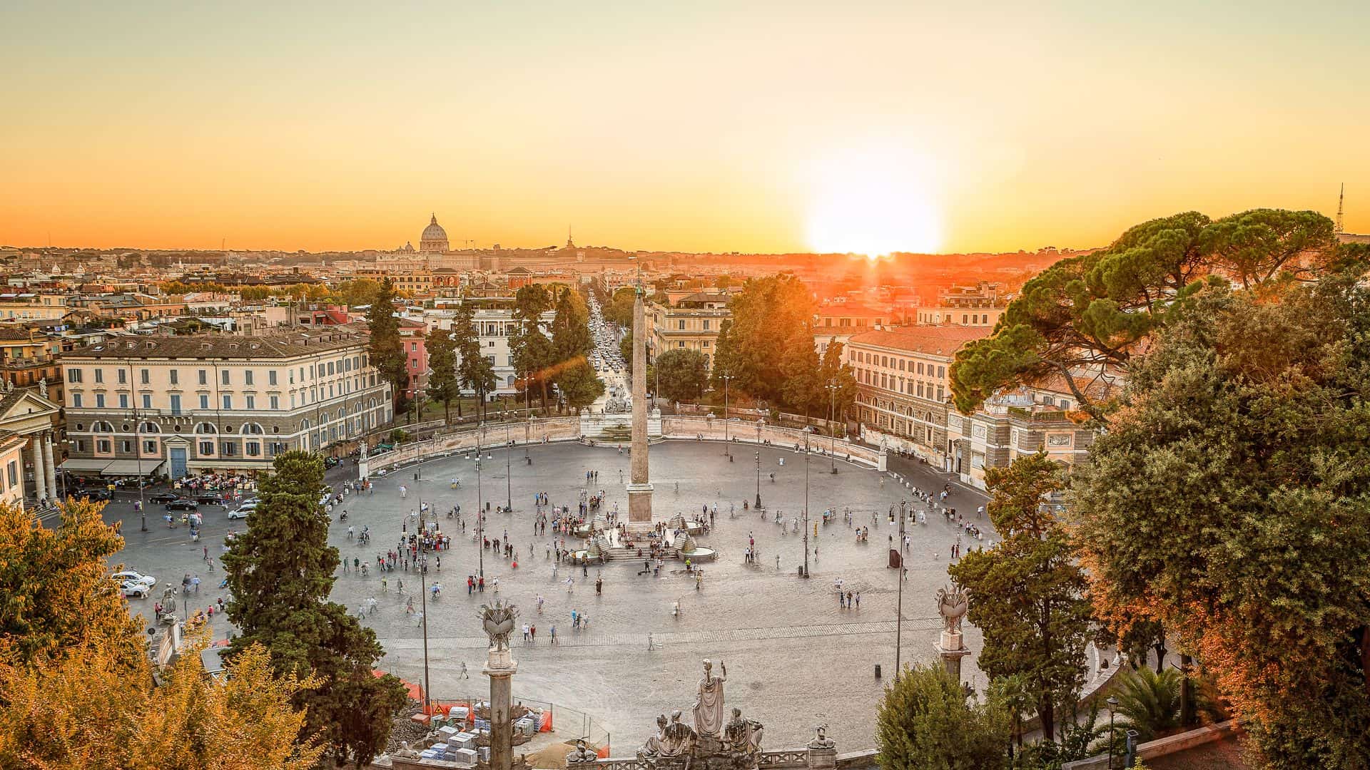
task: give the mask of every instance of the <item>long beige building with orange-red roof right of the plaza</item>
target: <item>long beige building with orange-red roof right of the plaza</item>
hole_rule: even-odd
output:
[[[856,375],[856,419],[867,441],[947,466],[947,371],[956,351],[989,336],[978,326],[873,330],[847,343]]]

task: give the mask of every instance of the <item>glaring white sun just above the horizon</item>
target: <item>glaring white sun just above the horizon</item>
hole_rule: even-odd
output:
[[[806,216],[810,248],[819,252],[936,252],[941,211],[930,171],[897,152],[844,152],[815,166]]]

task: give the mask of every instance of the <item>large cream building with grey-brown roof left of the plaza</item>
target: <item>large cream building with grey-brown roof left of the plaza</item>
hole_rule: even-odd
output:
[[[256,471],[389,423],[367,336],[119,337],[63,356],[63,467],[111,477]]]

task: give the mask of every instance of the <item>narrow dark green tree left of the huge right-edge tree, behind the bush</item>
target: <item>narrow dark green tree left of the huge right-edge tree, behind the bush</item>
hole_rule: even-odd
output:
[[[1045,454],[991,469],[988,514],[1003,541],[971,551],[948,567],[971,593],[967,619],[985,634],[980,669],[991,678],[1021,678],[1034,696],[1047,740],[1056,737],[1056,704],[1084,685],[1091,606],[1084,571],[1066,527],[1045,497],[1062,488]]]

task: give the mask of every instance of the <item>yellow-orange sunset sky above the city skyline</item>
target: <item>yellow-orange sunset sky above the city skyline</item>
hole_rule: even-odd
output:
[[[1103,245],[1370,232],[1370,3],[0,4],[0,244]]]

